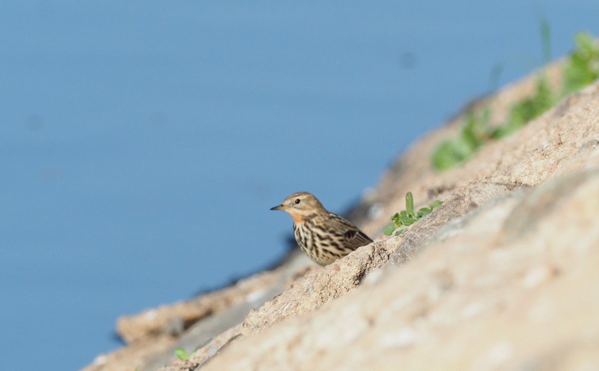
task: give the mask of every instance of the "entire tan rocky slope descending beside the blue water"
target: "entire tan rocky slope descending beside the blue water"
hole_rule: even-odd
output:
[[[533,85],[479,104],[501,120]],[[377,236],[407,191],[445,201],[403,235],[123,317],[128,346],[85,370],[599,369],[599,83],[432,171],[432,146],[461,120],[414,144],[352,213]],[[198,350],[173,360],[175,346]]]

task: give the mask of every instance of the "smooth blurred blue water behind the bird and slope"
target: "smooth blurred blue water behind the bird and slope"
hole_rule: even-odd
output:
[[[406,145],[598,34],[597,1],[0,2],[0,352],[69,370],[114,323],[287,253]],[[428,156],[428,154],[423,154]]]

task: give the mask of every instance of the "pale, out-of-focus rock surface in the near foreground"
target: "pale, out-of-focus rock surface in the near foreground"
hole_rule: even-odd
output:
[[[500,197],[409,263],[204,368],[599,369],[598,210],[599,168]]]

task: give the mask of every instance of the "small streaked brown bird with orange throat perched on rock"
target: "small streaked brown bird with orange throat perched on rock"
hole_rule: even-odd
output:
[[[294,193],[271,210],[283,210],[291,215],[295,241],[320,265],[331,264],[373,242],[349,221],[326,211],[319,200],[307,192]]]

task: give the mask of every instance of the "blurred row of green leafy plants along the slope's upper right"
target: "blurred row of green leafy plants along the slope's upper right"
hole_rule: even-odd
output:
[[[550,59],[550,27],[541,20],[541,49],[545,63]],[[516,102],[510,108],[503,123],[491,126],[491,110],[488,107],[466,112],[464,124],[456,138],[444,139],[431,154],[432,167],[442,171],[461,165],[474,156],[486,142],[510,135],[534,118],[549,110],[555,102],[577,92],[599,78],[599,44],[592,35],[581,32],[576,35],[574,51],[567,57],[562,68],[561,92],[554,92],[544,73],[537,78],[532,96]],[[497,74],[497,71],[493,71]]]

